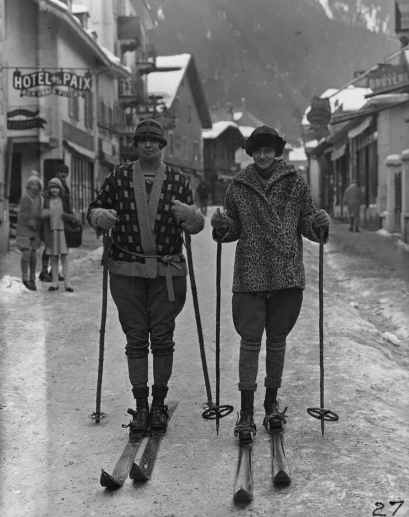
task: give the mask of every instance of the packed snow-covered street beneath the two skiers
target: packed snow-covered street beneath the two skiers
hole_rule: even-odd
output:
[[[206,227],[192,238],[193,261],[207,362],[215,396],[215,260],[209,209]],[[409,514],[409,253],[389,236],[333,223],[324,247],[325,407],[339,415],[320,422],[318,245],[304,241],[307,287],[287,342],[279,396],[289,406],[285,432],[292,483],[271,483],[270,439],[262,428],[265,349],[259,362],[255,406],[254,500],[237,504],[232,490],[238,448],[240,339],[231,321],[235,244],[223,245],[221,403],[234,412],[220,421],[201,418],[206,400],[190,292],[176,322],[174,374],[168,399],[179,404],[152,478],[129,478],[116,491],[99,483],[112,472],[127,443],[133,407],[124,337],[108,294],[99,424],[95,410],[101,320],[101,242],[85,230],[83,247],[70,251],[73,293],[49,293],[20,282],[20,254],[1,257],[0,489],[4,517],[361,517]],[[38,254],[40,260],[40,253]],[[389,265],[389,268],[388,268]],[[138,452],[138,457],[142,449]],[[381,506],[383,505],[383,506]],[[375,513],[376,514],[376,513]]]

